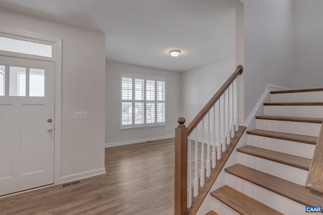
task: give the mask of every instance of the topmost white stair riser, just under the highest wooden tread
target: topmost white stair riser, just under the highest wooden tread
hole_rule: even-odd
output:
[[[323,102],[323,91],[271,94],[272,102]]]

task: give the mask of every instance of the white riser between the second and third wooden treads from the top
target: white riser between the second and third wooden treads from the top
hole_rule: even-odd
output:
[[[323,118],[323,106],[265,105],[264,106],[264,115]]]

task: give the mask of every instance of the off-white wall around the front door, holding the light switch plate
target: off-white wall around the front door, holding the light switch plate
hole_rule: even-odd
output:
[[[63,38],[62,176],[104,168],[105,35],[0,9],[0,26]],[[73,118],[87,111],[87,119]]]

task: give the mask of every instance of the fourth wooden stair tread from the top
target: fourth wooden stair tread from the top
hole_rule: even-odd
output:
[[[316,145],[316,142],[317,142],[316,136],[307,136],[307,135],[294,134],[294,133],[284,133],[284,132],[261,130],[261,129],[248,130],[247,133],[252,135],[257,135],[257,136],[271,137],[275,139],[284,139],[284,140],[295,141],[295,142],[303,142],[304,144]]]

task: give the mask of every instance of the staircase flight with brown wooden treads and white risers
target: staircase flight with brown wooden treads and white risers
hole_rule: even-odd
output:
[[[305,214],[305,206],[323,206],[323,197],[304,187],[323,120],[317,102],[323,88],[275,91],[271,101],[247,131],[248,145],[237,149],[238,164],[225,169],[226,185],[211,192],[220,215]]]

